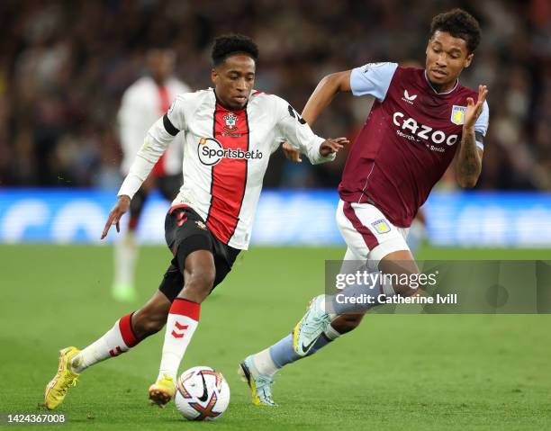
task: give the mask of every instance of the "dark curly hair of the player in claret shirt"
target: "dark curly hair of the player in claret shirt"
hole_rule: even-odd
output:
[[[478,21],[463,9],[452,9],[445,13],[436,15],[430,23],[430,38],[435,31],[446,31],[455,38],[465,40],[469,53],[480,43],[481,33]]]

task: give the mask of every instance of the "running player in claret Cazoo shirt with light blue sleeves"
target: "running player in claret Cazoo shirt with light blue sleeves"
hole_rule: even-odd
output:
[[[431,23],[424,68],[370,63],[324,77],[313,92],[303,111],[310,124],[339,92],[375,96],[339,184],[337,223],[348,246],[341,273],[362,267],[411,280],[419,270],[405,238],[434,184],[454,159],[458,183],[476,184],[488,128],[487,89],[466,88],[458,78],[471,65],[480,38],[479,24],[469,13],[441,13]],[[271,384],[277,370],[357,328],[366,310],[385,295],[419,293],[408,283],[389,285],[381,279],[344,291],[349,299],[373,302],[362,307],[335,294],[314,298],[290,335],[249,355],[239,373],[253,402],[274,405]]]

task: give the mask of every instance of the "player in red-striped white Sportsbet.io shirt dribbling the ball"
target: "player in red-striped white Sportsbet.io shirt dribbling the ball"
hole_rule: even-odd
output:
[[[59,352],[58,373],[44,400],[55,409],[79,373],[128,351],[166,326],[157,382],[149,401],[167,404],[176,392],[176,373],[199,323],[201,303],[248,248],[268,159],[282,137],[312,163],[333,160],[348,141],[316,136],[285,100],[254,91],[257,45],[245,36],[221,36],[212,48],[214,89],[179,94],[149,129],[118,193],[102,238],[130,206],[168,144],[184,134],[184,184],[165,221],[174,258],[151,299],[122,316],[83,350]]]

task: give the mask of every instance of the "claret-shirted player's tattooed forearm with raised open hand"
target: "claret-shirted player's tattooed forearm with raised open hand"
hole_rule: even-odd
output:
[[[487,94],[486,85],[479,85],[476,103],[472,97],[467,97],[463,136],[456,160],[457,182],[464,188],[474,187],[482,171],[483,150],[476,147],[474,125],[483,112]]]

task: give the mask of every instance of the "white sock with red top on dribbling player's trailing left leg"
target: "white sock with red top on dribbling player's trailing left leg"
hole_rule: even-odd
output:
[[[122,316],[103,337],[98,338],[90,346],[81,350],[71,361],[73,371],[82,373],[89,366],[107,358],[121,355],[131,347],[136,346],[140,340],[132,332],[132,314]]]

